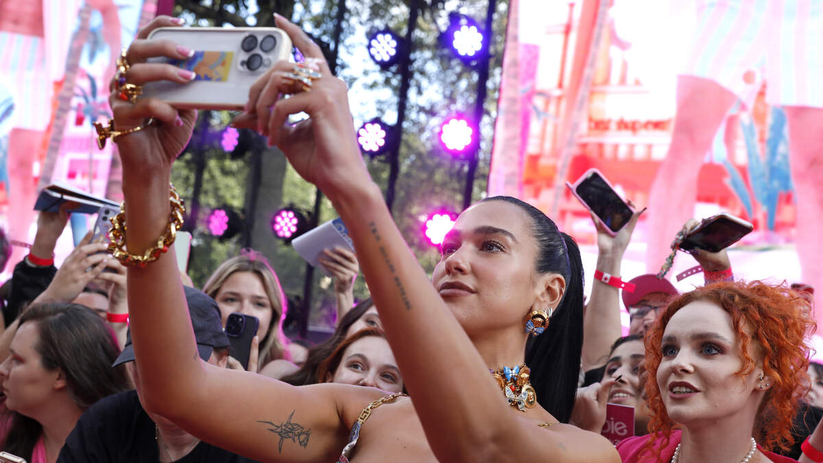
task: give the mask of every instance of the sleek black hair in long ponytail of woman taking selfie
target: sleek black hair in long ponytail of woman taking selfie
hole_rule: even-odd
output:
[[[546,331],[526,348],[526,364],[532,369],[537,401],[561,423],[568,423],[574,406],[583,348],[583,262],[577,242],[557,229],[555,222],[538,208],[511,196],[483,199],[518,206],[531,219],[537,242],[537,274],[560,274],[565,292],[551,315]]]

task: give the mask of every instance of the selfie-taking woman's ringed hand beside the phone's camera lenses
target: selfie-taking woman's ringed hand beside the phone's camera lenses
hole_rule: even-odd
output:
[[[249,102],[233,124],[267,136],[295,171],[332,200],[373,185],[357,145],[346,83],[332,76],[320,47],[300,27],[275,17],[306,60],[275,63],[249,89]],[[289,115],[300,112],[309,119],[289,124]]]

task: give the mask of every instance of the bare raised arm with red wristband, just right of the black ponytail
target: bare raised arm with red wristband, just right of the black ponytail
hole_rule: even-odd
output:
[[[635,231],[637,220],[644,211],[645,209],[635,213],[616,236],[609,235],[602,223],[592,216],[597,228],[597,270],[628,281],[628,278],[621,274],[621,262],[625,248],[631,241],[631,234]],[[593,278],[592,294],[588,298],[583,316],[584,372],[606,363],[611,344],[621,337],[620,291],[610,284],[603,283],[602,280]]]

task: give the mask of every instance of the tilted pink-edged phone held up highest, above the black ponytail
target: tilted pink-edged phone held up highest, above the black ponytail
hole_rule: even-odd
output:
[[[589,169],[574,184],[566,182],[566,186],[571,194],[594,213],[611,236],[620,232],[635,214],[635,209],[625,203],[597,169]]]

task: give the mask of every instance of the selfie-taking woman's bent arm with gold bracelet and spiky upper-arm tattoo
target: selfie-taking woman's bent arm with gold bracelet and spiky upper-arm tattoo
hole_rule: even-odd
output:
[[[160,16],[138,33],[128,49],[128,82],[188,82],[178,68],[145,63],[152,56],[188,56],[188,50],[173,43],[146,40],[157,27],[179,24]],[[114,90],[109,98],[116,129],[144,127],[117,138],[123,159],[126,248],[142,255],[168,230],[171,166],[191,137],[197,113],[174,110],[155,99],[123,101],[118,95]],[[146,125],[150,117],[159,124]],[[374,391],[367,388],[297,388],[202,362],[171,246],[143,267],[129,266],[127,288],[144,407],[218,447],[259,461],[333,461],[360,408],[374,400]],[[346,407],[341,397],[352,397],[359,407]],[[346,414],[348,409],[356,411]]]

